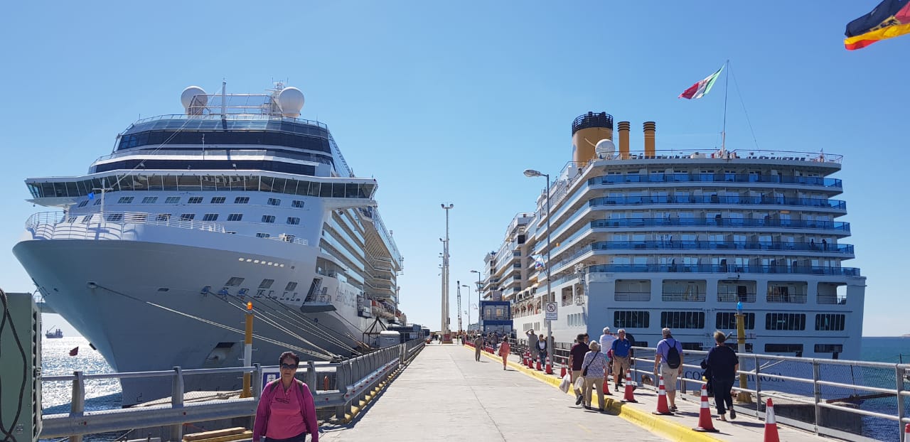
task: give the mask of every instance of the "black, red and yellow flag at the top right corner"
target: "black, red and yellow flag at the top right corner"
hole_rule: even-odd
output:
[[[885,0],[869,14],[847,24],[844,46],[849,51],[910,33],[910,0]]]

